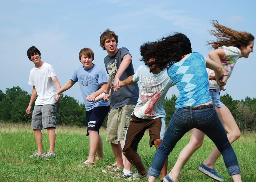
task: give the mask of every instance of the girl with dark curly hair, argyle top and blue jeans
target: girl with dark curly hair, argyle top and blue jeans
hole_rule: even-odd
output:
[[[159,177],[164,162],[176,143],[193,128],[199,129],[214,142],[233,180],[241,181],[241,171],[235,152],[228,141],[208,90],[206,67],[215,71],[216,82],[223,86],[225,84],[222,80],[222,66],[198,52],[192,53],[190,40],[181,33],[164,37],[157,44],[152,44],[151,49],[146,50],[149,51],[146,51],[144,56],[142,55],[142,61],[150,67],[167,68],[169,77],[180,92],[173,117],[149,168],[149,181],[155,181]],[[149,62],[149,57],[155,58],[155,61]],[[169,173],[164,181],[176,181],[171,178],[171,173]]]

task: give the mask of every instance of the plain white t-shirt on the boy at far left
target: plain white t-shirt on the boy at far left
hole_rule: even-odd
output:
[[[35,105],[54,104],[56,93],[51,77],[56,76],[52,65],[45,63],[39,68],[32,68],[29,73],[29,85],[35,86],[37,100]]]

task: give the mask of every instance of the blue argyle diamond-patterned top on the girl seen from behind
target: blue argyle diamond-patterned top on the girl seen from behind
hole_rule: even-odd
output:
[[[175,108],[211,101],[206,62],[200,53],[191,53],[187,59],[173,64],[167,72],[180,91]]]

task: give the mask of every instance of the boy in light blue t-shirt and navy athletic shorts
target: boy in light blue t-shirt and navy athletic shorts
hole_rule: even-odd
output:
[[[71,79],[58,90],[57,96],[70,89],[76,82],[79,82],[86,109],[87,134],[89,135],[90,151],[85,162],[78,167],[95,166],[96,160],[103,158],[102,140],[99,136],[99,129],[108,114],[110,103],[103,100],[103,91],[107,85],[107,76],[101,67],[93,64],[94,53],[90,48],[83,48],[79,53],[79,60],[82,63],[74,71]],[[99,114],[100,113],[100,114]]]

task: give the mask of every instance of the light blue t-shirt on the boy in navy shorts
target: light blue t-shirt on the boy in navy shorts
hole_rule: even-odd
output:
[[[110,105],[109,102],[105,102],[103,99],[95,102],[86,101],[88,95],[99,90],[101,88],[100,85],[107,83],[107,76],[101,67],[93,64],[91,69],[86,70],[83,65],[81,65],[74,71],[71,81],[79,82],[86,111],[90,111],[94,107]]]

